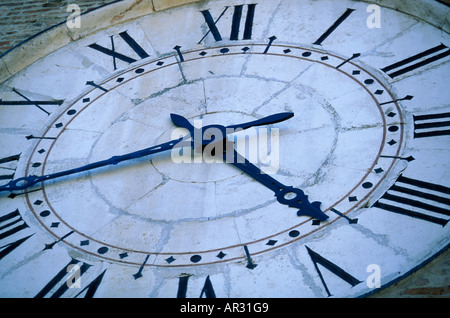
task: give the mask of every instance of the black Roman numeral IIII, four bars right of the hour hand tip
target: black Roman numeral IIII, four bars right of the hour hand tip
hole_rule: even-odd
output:
[[[450,188],[400,175],[373,206],[445,226],[448,219],[432,214],[450,216]]]

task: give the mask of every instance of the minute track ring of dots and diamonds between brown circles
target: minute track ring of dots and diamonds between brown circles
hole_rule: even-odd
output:
[[[398,117],[397,117],[396,122],[398,122],[397,125],[400,128],[396,131],[396,134],[399,136],[399,138],[397,141],[398,146],[396,147],[396,149],[394,151],[394,155],[398,156],[400,154],[400,150],[401,150],[402,143],[403,143],[403,133],[404,133],[403,119],[401,117],[402,112],[401,112],[401,109],[400,109],[398,103],[395,101],[396,100],[395,96],[389,91],[387,86],[379,80],[378,77],[372,75],[369,71],[367,71],[366,69],[357,65],[353,61],[349,61],[346,58],[340,57],[335,54],[330,54],[328,52],[322,52],[322,51],[319,51],[316,49],[303,48],[303,47],[297,47],[297,46],[289,46],[289,45],[272,45],[269,52],[264,52],[266,47],[267,47],[266,44],[252,44],[252,45],[250,45],[250,47],[245,46],[245,45],[229,45],[229,46],[221,46],[221,47],[213,47],[213,48],[207,48],[207,49],[205,48],[205,49],[201,49],[201,50],[187,51],[187,52],[182,53],[183,61],[180,60],[180,56],[177,53],[170,54],[170,55],[164,56],[164,57],[156,59],[156,60],[145,61],[144,63],[142,63],[139,66],[133,66],[132,68],[127,69],[126,71],[121,72],[120,74],[115,74],[114,76],[107,78],[106,80],[104,80],[102,83],[99,83],[98,85],[100,85],[102,87],[108,87],[108,91],[111,91],[111,90],[115,89],[116,87],[119,87],[120,85],[123,85],[124,83],[134,80],[134,79],[136,79],[140,76],[143,76],[149,72],[154,72],[161,68],[173,66],[178,63],[186,63],[186,62],[190,62],[190,61],[207,59],[207,58],[229,57],[229,56],[242,55],[242,54],[248,54],[248,55],[264,54],[266,56],[289,57],[289,58],[302,59],[302,60],[306,60],[306,61],[310,61],[310,62],[314,62],[314,63],[320,63],[322,65],[332,68],[333,70],[339,71],[342,74],[347,75],[353,81],[355,81],[357,84],[362,86],[366,90],[366,92],[371,96],[375,105],[378,107],[380,116],[383,121],[383,138],[380,143],[380,149],[378,151],[378,155],[374,159],[374,162],[370,169],[370,170],[373,170],[375,168],[380,156],[382,155],[382,153],[384,151],[386,140],[387,140],[387,135],[389,134],[389,132],[387,131],[387,127],[388,127],[389,123],[387,123],[387,121],[386,121],[387,117],[385,114],[385,109],[383,108],[383,103],[377,99],[377,96],[375,96],[376,93],[374,93],[373,90],[371,90],[368,87],[367,83],[364,83],[364,82],[360,81],[359,79],[355,78],[354,76],[350,75],[345,70],[343,70],[343,68],[337,68],[336,65],[338,65],[338,64],[331,65],[331,64],[328,64],[326,61],[333,60],[333,61],[340,61],[340,63],[345,62],[347,65],[352,65],[353,67],[356,67],[357,69],[364,72],[364,74],[369,76],[370,79],[375,81],[379,87],[381,87],[385,92],[387,92],[389,94],[390,100],[392,100],[391,104],[395,106],[395,109],[397,111]],[[225,51],[224,50],[225,48],[227,48],[228,50]],[[247,48],[247,49],[245,49],[245,48]],[[203,53],[206,53],[206,54],[203,54]],[[324,59],[325,56],[328,57],[328,59]],[[168,61],[170,61],[170,62],[166,63]],[[158,65],[158,64],[160,64],[160,65]],[[152,66],[152,68],[150,70],[145,70],[144,68],[147,66]],[[141,70],[143,70],[143,71],[141,71]],[[133,74],[133,77],[130,77],[128,79],[124,79],[120,82],[117,82],[118,78],[123,77],[126,74]],[[370,84],[373,84],[373,82]],[[92,98],[89,101],[89,103],[87,103],[86,105],[83,105],[82,107],[79,107],[75,113],[73,113],[73,111],[72,111],[71,114],[69,114],[71,109],[73,109],[73,107],[76,107],[75,105],[77,105],[77,103],[80,103],[80,101],[82,101],[84,98],[86,98],[86,96],[89,96],[93,92],[96,92],[96,94],[94,94],[94,98]],[[51,142],[51,144],[48,146],[48,149],[47,149],[47,152],[45,155],[45,159],[43,160],[42,165],[41,165],[41,171],[40,171],[41,174],[45,174],[45,166],[46,166],[47,158],[48,158],[49,154],[51,153],[53,145],[56,143],[59,136],[65,131],[66,127],[74,120],[74,118],[76,118],[76,116],[78,116],[80,113],[82,113],[82,111],[84,109],[89,107],[89,105],[94,103],[98,98],[101,98],[104,94],[107,94],[107,92],[98,92],[98,91],[96,91],[96,88],[92,88],[92,89],[88,90],[86,93],[84,93],[82,96],[80,96],[75,102],[71,103],[61,113],[61,115],[58,116],[54,120],[52,125],[49,125],[49,128],[47,128],[47,130],[44,132],[43,136],[46,136],[49,133],[50,128],[54,127],[56,123],[63,122],[63,126],[61,127],[59,133],[55,137],[55,140],[53,142]],[[32,171],[31,166],[34,162],[33,154],[37,153],[38,149],[40,149],[43,146],[43,144],[44,144],[44,141],[39,140],[37,142],[36,146],[34,147],[32,155],[29,157],[29,160],[28,160],[28,164],[27,164],[27,168],[26,168],[26,172],[25,172],[26,175],[29,175],[29,173],[31,173],[31,171]],[[343,215],[346,215],[350,211],[354,210],[358,205],[361,204],[361,202],[364,201],[365,198],[369,197],[373,193],[373,191],[382,183],[385,176],[389,173],[389,171],[391,170],[395,161],[396,161],[396,159],[391,160],[390,165],[388,165],[388,169],[384,170],[384,176],[378,181],[378,183],[376,183],[373,186],[368,187],[368,188],[366,186],[363,186],[364,188],[367,189],[365,192],[365,197],[360,199],[358,203],[355,203],[352,206],[352,208],[347,209],[345,211],[341,211]],[[338,206],[340,204],[340,202],[342,202],[347,197],[349,197],[353,191],[360,188],[361,185],[367,185],[368,183],[370,183],[366,180],[367,176],[370,173],[371,173],[370,171],[367,172],[367,174],[356,183],[354,188],[349,193],[343,195],[342,199],[340,201],[338,201],[334,205],[330,206],[324,212],[328,212],[328,211],[334,209],[336,206]],[[100,257],[100,258],[107,259],[110,261],[118,261],[121,263],[130,263],[130,264],[136,264],[136,265],[141,265],[142,258],[146,255],[152,255],[154,257],[152,263],[148,262],[146,264],[146,265],[153,265],[153,266],[205,265],[205,264],[213,264],[213,263],[220,263],[220,262],[242,259],[242,247],[243,246],[248,246],[252,250],[252,255],[264,253],[264,252],[267,252],[267,251],[270,251],[270,250],[273,250],[276,248],[280,248],[287,244],[293,243],[295,241],[298,241],[316,231],[321,230],[323,227],[334,223],[337,219],[339,219],[341,217],[341,216],[338,216],[336,218],[332,218],[329,222],[317,225],[313,230],[310,230],[309,232],[302,234],[302,235],[300,235],[301,232],[303,232],[302,226],[311,222],[310,219],[303,220],[302,222],[297,223],[282,232],[270,234],[267,237],[259,238],[252,242],[244,242],[239,245],[226,246],[226,247],[212,249],[212,250],[206,250],[206,251],[189,251],[189,252],[185,252],[185,253],[168,252],[168,251],[163,251],[163,252],[142,251],[142,250],[133,250],[133,249],[129,249],[129,248],[123,248],[120,246],[111,245],[111,244],[108,244],[107,242],[102,242],[102,241],[95,239],[94,237],[89,237],[89,236],[83,234],[81,231],[79,231],[76,228],[73,228],[70,224],[65,222],[65,220],[58,215],[57,211],[55,211],[55,209],[52,207],[51,202],[49,202],[49,200],[47,198],[45,184],[42,185],[42,195],[43,195],[44,200],[46,201],[46,204],[49,207],[49,211],[51,211],[51,213],[53,215],[55,215],[55,217],[58,218],[59,221],[66,227],[64,233],[69,233],[71,231],[75,232],[79,236],[85,237],[86,239],[88,239],[91,242],[95,242],[97,245],[95,248],[89,248],[89,249],[84,248],[83,246],[80,246],[79,242],[72,240],[70,236],[66,237],[65,235],[62,235],[61,232],[57,232],[54,229],[52,229],[51,227],[49,227],[48,224],[46,222],[44,222],[43,217],[40,216],[39,212],[36,209],[36,206],[31,201],[32,199],[30,198],[30,195],[28,195],[28,193],[27,193],[26,194],[27,203],[28,203],[30,210],[34,214],[35,218],[40,222],[40,224],[49,233],[51,233],[58,240],[66,243],[67,245],[71,246],[72,248],[81,250],[85,253],[94,255],[96,257]],[[300,228],[302,228],[301,232],[298,231],[298,229],[300,229]],[[293,235],[294,231],[295,231],[295,233],[298,232],[300,234]],[[275,238],[277,238],[276,241],[279,242],[278,244],[276,244],[276,246],[275,245],[267,245],[265,243],[267,241],[275,241]],[[92,244],[91,246],[93,246],[93,245],[95,245],[95,244]],[[105,252],[105,249],[103,247],[107,248],[106,249],[107,252]],[[127,258],[119,258],[117,255],[113,256],[113,254],[112,254],[113,250],[115,251],[115,253],[117,255],[123,254],[123,253],[128,253],[128,254],[135,254],[135,255],[140,255],[140,256],[134,257],[133,260],[130,261]],[[120,253],[120,251],[122,251],[122,252]],[[228,252],[226,254],[226,256],[224,256],[222,258],[217,256],[221,253],[225,254],[224,251]],[[174,255],[177,257],[175,261],[170,261],[170,262],[167,261],[167,259],[170,259],[170,257],[175,258]],[[195,262],[193,260],[195,260]]]

